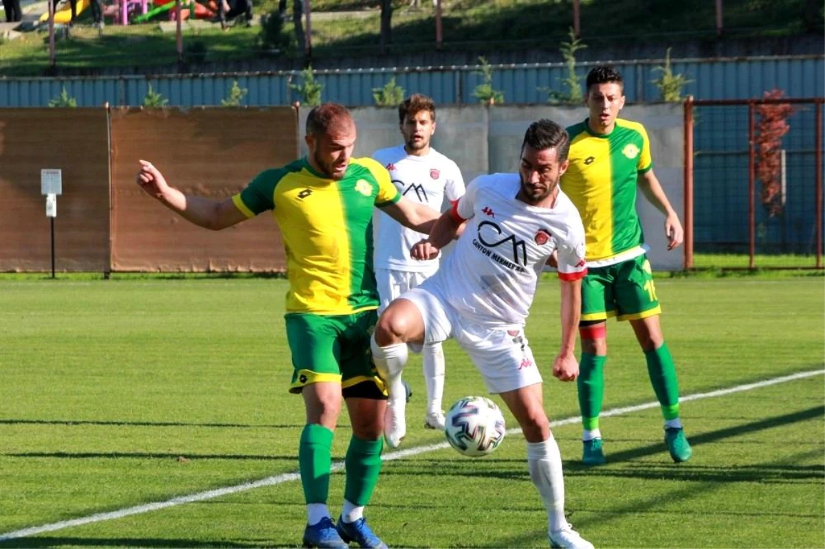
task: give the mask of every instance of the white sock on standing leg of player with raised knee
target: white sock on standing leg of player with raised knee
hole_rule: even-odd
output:
[[[547,509],[547,526],[550,532],[567,528],[564,518],[564,476],[559,445],[550,438],[540,443],[527,443],[527,467],[530,479],[539,490],[544,509]]]

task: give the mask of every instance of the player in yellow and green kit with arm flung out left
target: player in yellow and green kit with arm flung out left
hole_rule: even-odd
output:
[[[191,223],[214,230],[271,210],[284,240],[289,291],[286,336],[292,352],[290,392],[304,397],[307,423],[299,465],[307,504],[304,547],[387,547],[363,517],[378,481],[387,391],[370,356],[378,290],[372,270],[375,206],[418,232],[430,232],[435,210],[404,199],[389,172],[352,158],[356,126],[343,106],[309,113],[309,155],[266,170],[230,199],[187,196],[141,161],[137,176],[149,195]],[[337,525],[327,508],[332,436],[344,401],[352,424],[345,460],[344,505]]]

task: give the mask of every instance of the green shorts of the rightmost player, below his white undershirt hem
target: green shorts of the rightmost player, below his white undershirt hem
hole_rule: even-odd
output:
[[[648,256],[587,269],[582,280],[582,321],[636,320],[660,312]]]

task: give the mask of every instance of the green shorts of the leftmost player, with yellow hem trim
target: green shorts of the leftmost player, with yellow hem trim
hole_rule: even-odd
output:
[[[363,394],[352,396],[387,394],[370,353],[370,336],[378,321],[375,309],[349,315],[295,312],[284,318],[295,368],[290,392],[299,393],[309,383],[340,382],[346,397],[347,389],[366,382],[374,387],[362,387]]]

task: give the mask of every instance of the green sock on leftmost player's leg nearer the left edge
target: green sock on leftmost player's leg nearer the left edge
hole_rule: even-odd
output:
[[[332,466],[332,431],[323,425],[305,425],[298,447],[301,484],[306,503],[327,503]]]

